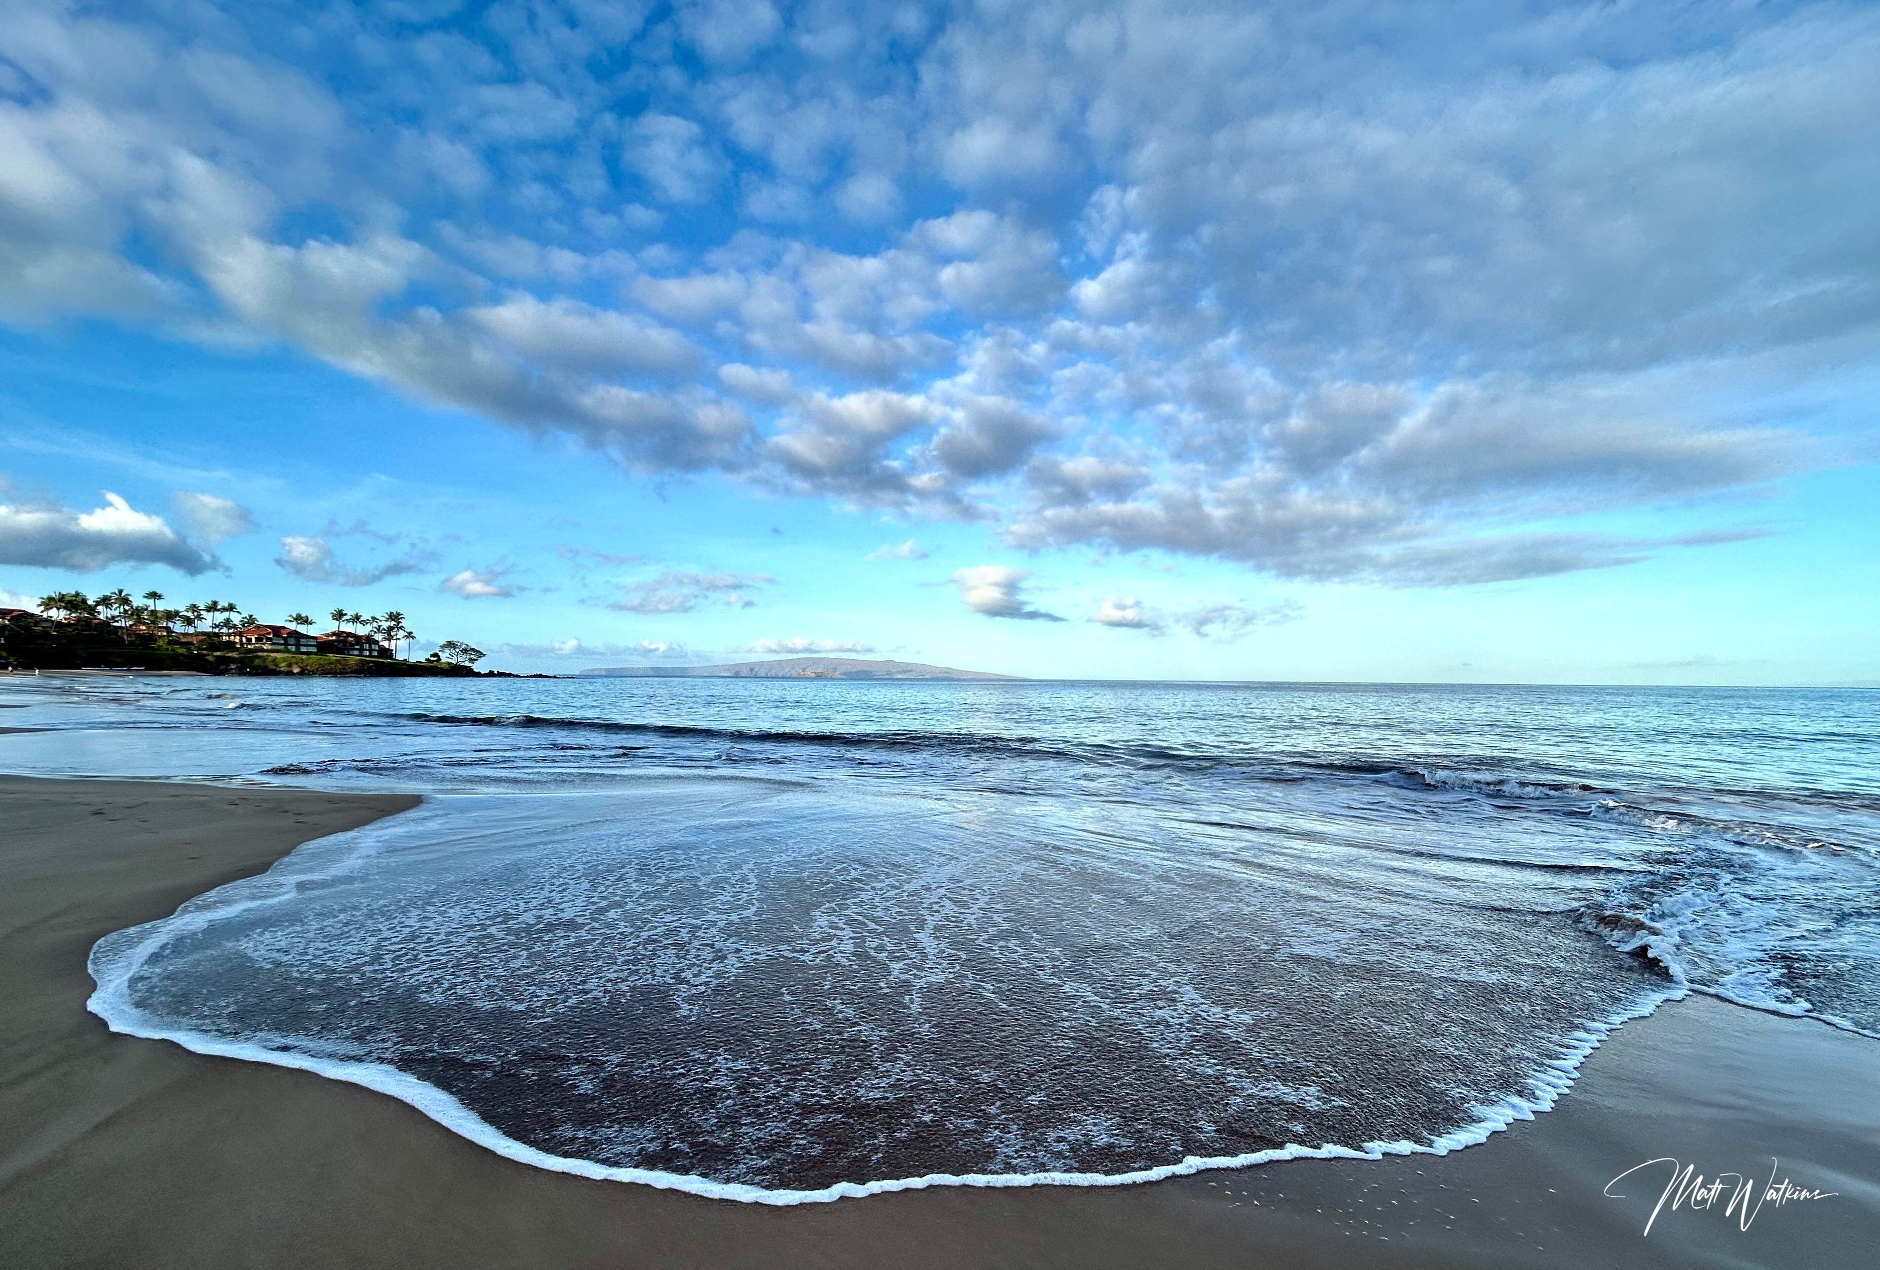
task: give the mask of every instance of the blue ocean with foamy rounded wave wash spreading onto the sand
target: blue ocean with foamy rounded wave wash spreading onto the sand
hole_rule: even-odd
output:
[[[0,768],[412,791],[111,1028],[758,1202],[1446,1152],[1688,992],[1880,1035],[1880,693],[0,678]]]

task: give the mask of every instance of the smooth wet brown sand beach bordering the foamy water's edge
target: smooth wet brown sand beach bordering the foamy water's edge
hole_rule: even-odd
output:
[[[502,1159],[363,1088],[118,1037],[103,934],[404,797],[0,778],[0,1264],[1856,1266],[1880,1246],[1880,1043],[1692,998],[1557,1110],[1448,1157],[761,1208]],[[1538,968],[1536,973],[1543,973]],[[1835,1191],[1664,1212],[1654,1157]]]

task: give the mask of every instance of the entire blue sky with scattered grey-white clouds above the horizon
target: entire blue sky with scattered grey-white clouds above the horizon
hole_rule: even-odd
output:
[[[0,603],[1880,680],[1872,6],[0,13]]]

